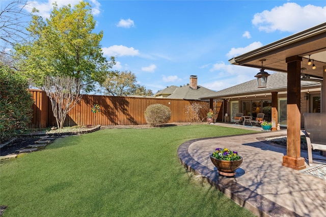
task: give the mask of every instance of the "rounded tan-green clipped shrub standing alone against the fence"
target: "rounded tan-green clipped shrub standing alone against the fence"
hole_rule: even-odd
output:
[[[171,110],[161,104],[150,105],[145,110],[146,122],[152,127],[167,123],[171,118]]]

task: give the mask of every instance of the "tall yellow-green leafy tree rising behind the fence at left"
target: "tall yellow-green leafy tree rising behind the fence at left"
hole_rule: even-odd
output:
[[[45,21],[33,15],[27,30],[34,40],[15,46],[19,69],[37,87],[42,87],[45,76],[60,75],[80,79],[86,92],[93,90],[115,64],[113,56],[110,60],[103,56],[103,33],[92,33],[94,27],[91,7],[86,2],[73,9],[53,4],[50,18]]]

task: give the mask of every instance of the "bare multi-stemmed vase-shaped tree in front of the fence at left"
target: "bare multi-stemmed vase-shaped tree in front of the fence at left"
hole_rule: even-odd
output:
[[[82,99],[82,85],[74,77],[50,77],[44,80],[43,90],[50,98],[53,115],[59,129],[63,128],[68,112]]]

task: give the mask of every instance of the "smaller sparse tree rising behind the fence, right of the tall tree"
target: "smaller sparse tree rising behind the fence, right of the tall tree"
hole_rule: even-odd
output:
[[[102,85],[110,96],[152,96],[152,90],[137,83],[137,77],[132,72],[111,72]]]

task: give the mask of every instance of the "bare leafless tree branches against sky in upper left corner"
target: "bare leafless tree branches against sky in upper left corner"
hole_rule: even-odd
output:
[[[15,0],[0,9],[0,60],[12,66],[11,47],[29,38],[25,32],[31,14],[26,9],[27,1]]]

